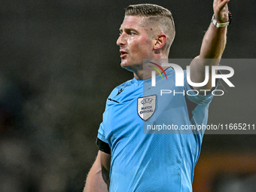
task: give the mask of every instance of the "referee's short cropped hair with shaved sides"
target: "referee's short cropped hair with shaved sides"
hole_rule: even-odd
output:
[[[171,47],[175,37],[175,25],[171,11],[159,5],[129,5],[128,8],[126,8],[125,16],[145,17],[147,26],[158,25],[158,29],[154,29],[154,31],[163,32],[167,36],[166,48],[169,49],[169,47]]]

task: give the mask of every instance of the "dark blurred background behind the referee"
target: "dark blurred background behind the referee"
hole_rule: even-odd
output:
[[[95,141],[105,100],[114,87],[133,78],[120,68],[116,40],[124,8],[138,3],[154,3],[172,11],[176,37],[170,58],[199,54],[212,19],[212,1],[0,3],[0,191],[83,190],[98,151]],[[224,58],[255,58],[253,3],[230,1],[233,21]],[[209,123],[255,123],[256,68],[245,64],[236,66],[236,88],[228,88],[224,96],[213,100]],[[245,84],[246,92],[239,93]],[[236,189],[241,183],[252,186],[255,139],[249,134],[206,135],[194,191],[227,192],[232,189],[230,183]],[[210,181],[203,183],[204,177]]]

